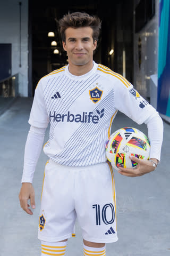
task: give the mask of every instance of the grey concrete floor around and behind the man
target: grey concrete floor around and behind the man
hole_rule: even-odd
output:
[[[43,151],[33,181],[36,209],[32,216],[22,211],[18,199],[31,103],[31,98],[19,98],[0,116],[1,256],[40,256],[37,230],[44,165],[47,161]],[[137,127],[147,134],[145,125],[139,126],[123,114],[118,114],[112,131],[124,126]],[[115,171],[119,239],[116,243],[107,244],[107,255],[170,255],[169,131],[169,124],[164,123],[162,161],[155,172],[139,178],[128,178]],[[48,135],[45,141],[47,138]],[[67,245],[66,256],[69,255],[82,255],[82,236],[78,223],[76,237],[69,239]]]

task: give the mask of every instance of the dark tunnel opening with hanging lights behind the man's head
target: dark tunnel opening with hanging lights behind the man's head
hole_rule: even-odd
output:
[[[68,11],[87,12],[101,19],[94,60],[133,83],[134,2],[114,0],[106,5],[103,1],[29,1],[29,95],[33,95],[40,77],[67,64],[57,21]],[[48,37],[49,31],[55,36]],[[56,41],[57,46],[51,46],[52,41]]]

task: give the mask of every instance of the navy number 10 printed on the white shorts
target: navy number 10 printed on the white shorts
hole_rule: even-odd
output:
[[[101,220],[106,224],[110,225],[115,220],[115,210],[112,203],[105,204],[100,210],[99,204],[92,205],[93,209],[96,210],[96,225],[101,225]],[[109,216],[109,217],[108,217]]]

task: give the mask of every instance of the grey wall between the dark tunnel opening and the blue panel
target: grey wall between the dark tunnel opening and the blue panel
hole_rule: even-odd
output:
[[[135,5],[138,3],[139,1],[136,1]],[[150,76],[158,73],[158,0],[155,1],[155,5],[154,17],[139,33],[134,33],[134,86],[145,98],[150,98]],[[139,39],[141,39],[141,62],[139,56]]]

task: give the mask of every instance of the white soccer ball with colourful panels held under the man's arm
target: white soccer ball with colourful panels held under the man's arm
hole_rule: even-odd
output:
[[[114,169],[133,168],[137,163],[129,156],[149,159],[150,143],[147,136],[133,127],[124,127],[112,133],[106,143],[106,157]]]

